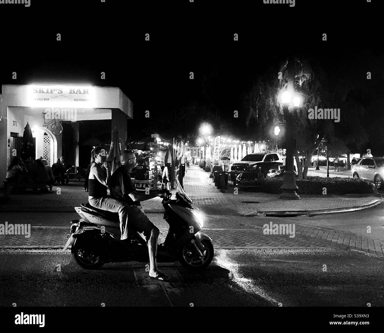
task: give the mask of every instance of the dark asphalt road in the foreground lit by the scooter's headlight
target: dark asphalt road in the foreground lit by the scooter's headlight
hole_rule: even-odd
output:
[[[171,283],[141,263],[85,270],[70,253],[1,251],[0,262],[0,306],[384,306],[384,261],[358,252],[216,250],[202,273],[160,264]]]

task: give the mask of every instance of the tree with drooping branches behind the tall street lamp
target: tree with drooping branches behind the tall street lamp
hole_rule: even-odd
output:
[[[278,70],[272,69],[258,77],[250,91],[244,96],[244,107],[247,110],[246,125],[248,127],[256,122],[257,135],[260,139],[266,137],[276,123],[285,123],[283,105],[279,97],[288,85],[287,64],[286,61]],[[282,74],[282,79],[278,77],[279,72]],[[300,155],[305,157],[304,170],[298,167],[300,179],[306,178],[308,167],[311,165],[311,157],[321,143],[340,136],[339,132],[335,132],[334,120],[308,118],[309,109],[314,109],[315,106],[318,109],[336,107],[343,100],[340,99],[340,96],[345,98],[348,95],[351,85],[330,81],[321,68],[316,68],[315,71],[307,60],[296,58],[295,95],[300,96],[301,106],[293,111],[295,128],[287,130],[295,133],[296,164],[300,166]],[[361,110],[357,107],[355,109],[358,112]]]

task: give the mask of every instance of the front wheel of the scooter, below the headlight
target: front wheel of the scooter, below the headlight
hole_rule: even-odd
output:
[[[180,264],[192,271],[202,271],[207,268],[214,258],[214,246],[208,239],[203,239],[201,245],[203,247],[202,257],[194,243],[191,241],[185,243],[179,251]]]

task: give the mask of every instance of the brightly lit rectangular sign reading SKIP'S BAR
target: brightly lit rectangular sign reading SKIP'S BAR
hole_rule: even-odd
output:
[[[93,87],[31,85],[28,91],[28,106],[58,108],[92,108]]]

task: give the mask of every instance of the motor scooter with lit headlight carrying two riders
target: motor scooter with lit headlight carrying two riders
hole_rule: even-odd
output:
[[[164,219],[169,229],[164,243],[157,246],[156,261],[179,261],[190,270],[200,271],[207,268],[214,258],[212,239],[201,232],[204,226],[202,213],[192,206],[193,201],[177,178],[175,183],[177,192],[172,196],[164,177],[160,197],[163,198]],[[89,203],[74,209],[81,219],[71,221],[63,251],[71,245],[71,253],[81,267],[98,269],[111,262],[149,262],[148,239],[141,231],[131,229],[133,239],[120,240],[118,213],[97,209]]]

